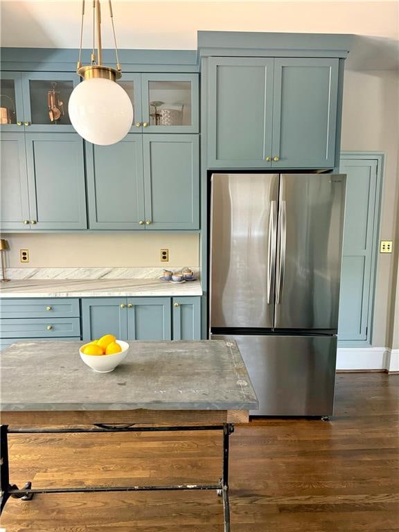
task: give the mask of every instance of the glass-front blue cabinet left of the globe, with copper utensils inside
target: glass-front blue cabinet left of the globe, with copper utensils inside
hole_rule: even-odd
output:
[[[80,80],[77,74],[3,72],[1,77],[1,106],[10,108],[10,116],[1,120],[3,131],[75,131],[69,120],[68,103]]]

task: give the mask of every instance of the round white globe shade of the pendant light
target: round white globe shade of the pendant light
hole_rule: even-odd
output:
[[[133,122],[133,106],[126,91],[104,78],[79,83],[69,98],[68,112],[76,131],[93,144],[121,141]]]

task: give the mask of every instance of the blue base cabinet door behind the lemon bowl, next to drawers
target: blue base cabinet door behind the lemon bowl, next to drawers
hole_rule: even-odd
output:
[[[82,339],[95,340],[105,334],[127,339],[127,302],[125,297],[82,299]]]

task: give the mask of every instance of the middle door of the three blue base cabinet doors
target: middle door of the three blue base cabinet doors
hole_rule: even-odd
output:
[[[170,340],[169,297],[127,298],[128,340]]]

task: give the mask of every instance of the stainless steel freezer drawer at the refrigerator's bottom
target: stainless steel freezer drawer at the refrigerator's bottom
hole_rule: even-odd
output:
[[[236,340],[259,400],[257,416],[330,416],[337,337],[229,336]]]

